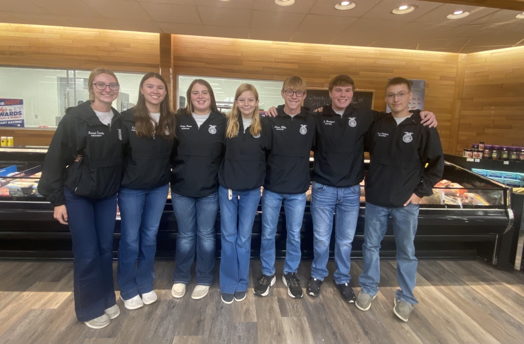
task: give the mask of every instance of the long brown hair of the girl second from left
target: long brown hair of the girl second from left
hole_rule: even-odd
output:
[[[144,78],[142,78],[142,81],[140,81],[140,89],[143,88],[144,82],[150,78],[162,81],[166,88],[166,96],[160,103],[160,119],[158,120],[158,125],[155,129],[155,126],[151,121],[151,115],[147,109],[144,94],[138,92],[138,101],[133,108],[136,136],[152,138],[153,133],[155,133],[156,135],[161,135],[163,138],[174,138],[176,137],[174,133],[176,128],[176,118],[174,117],[173,110],[169,104],[169,90],[167,88],[166,79],[164,79],[159,73],[149,72],[144,76]]]

